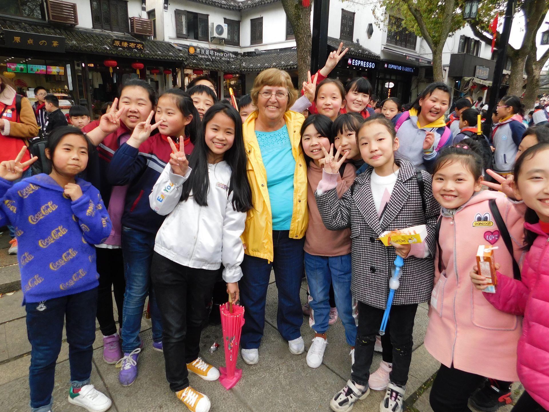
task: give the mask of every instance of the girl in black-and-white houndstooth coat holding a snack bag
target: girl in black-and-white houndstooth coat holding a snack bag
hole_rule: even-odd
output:
[[[315,193],[318,210],[329,230],[351,228],[351,291],[358,300],[355,363],[351,379],[330,401],[335,412],[348,411],[369,394],[369,368],[376,335],[389,294],[389,279],[396,255],[405,258],[400,286],[391,307],[390,338],[393,368],[380,411],[400,412],[412,358],[412,330],[419,303],[427,302],[433,288],[435,230],[440,206],[431,190],[431,176],[410,162],[395,159],[399,148],[393,124],[385,118],[367,119],[357,132],[358,148],[370,166],[358,175],[350,190],[338,199],[335,190],[339,150],[323,159],[324,170]],[[432,146],[432,136],[424,146]],[[429,140],[430,139],[430,140]],[[333,153],[333,152],[332,152]],[[422,199],[423,197],[423,199]],[[386,230],[427,225],[423,243],[385,247],[378,240]]]

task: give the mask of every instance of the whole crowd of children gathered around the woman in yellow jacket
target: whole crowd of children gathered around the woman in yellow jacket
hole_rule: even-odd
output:
[[[245,308],[240,355],[259,364],[271,271],[289,352],[305,352],[304,315],[310,368],[326,350],[349,351],[349,380],[327,399],[333,411],[370,391],[385,392],[380,411],[404,410],[425,302],[425,347],[441,363],[435,412],[512,400],[513,412],[549,410],[549,98],[526,114],[519,97],[504,96],[488,113],[481,97],[452,101],[434,82],[413,102],[379,101],[365,77],[329,77],[342,46],[301,90],[267,69],[234,108],[207,76],[160,96],[132,79],[97,120],[72,106],[70,125],[53,94],[37,87],[31,106],[0,76],[0,226],[19,259],[32,412],[53,410],[64,321],[68,400],[108,410],[91,383],[95,321],[103,360],[132,385],[149,349],[139,335],[147,298],[150,349],[164,354],[171,391],[208,412],[191,381],[220,373],[200,357],[201,331],[219,324],[228,293]],[[488,115],[485,136],[478,119]],[[419,225],[422,242],[379,240]],[[477,270],[485,244],[497,249],[494,293]],[[397,258],[400,285],[381,335]],[[339,318],[346,344],[328,348]],[[370,373],[374,351],[382,361]],[[514,381],[525,388],[519,399]]]

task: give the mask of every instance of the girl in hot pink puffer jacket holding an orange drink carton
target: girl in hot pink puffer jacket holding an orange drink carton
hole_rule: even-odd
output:
[[[497,272],[496,293],[483,293],[496,309],[524,316],[517,348],[517,372],[526,391],[512,412],[549,410],[549,143],[530,147],[514,166],[514,193],[528,207],[524,224],[522,280]],[[501,262],[500,262],[501,263]],[[510,266],[497,264],[508,272]],[[475,287],[486,279],[470,272]],[[473,293],[475,293],[474,291]]]

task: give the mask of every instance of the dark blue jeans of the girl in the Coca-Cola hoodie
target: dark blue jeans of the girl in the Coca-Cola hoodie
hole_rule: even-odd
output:
[[[71,386],[88,385],[96,339],[96,308],[97,288],[40,304],[25,304],[27,336],[32,346],[29,387],[33,412],[52,409],[55,362],[61,350],[65,319]]]

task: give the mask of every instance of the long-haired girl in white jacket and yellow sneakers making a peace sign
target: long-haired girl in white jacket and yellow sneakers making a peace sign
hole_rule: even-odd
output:
[[[214,104],[204,115],[190,162],[171,139],[170,145],[174,153],[149,196],[150,207],[168,215],[156,235],[151,274],[170,388],[189,410],[207,412],[210,400],[189,386],[188,371],[208,381],[219,377],[198,353],[221,264],[227,292],[233,301],[239,298],[240,235],[251,208],[240,115],[227,104]]]

